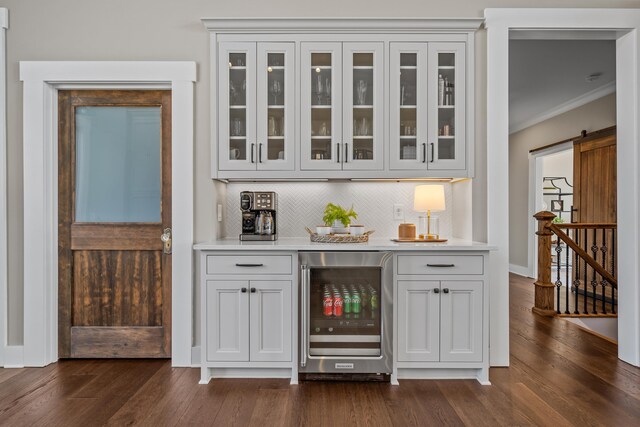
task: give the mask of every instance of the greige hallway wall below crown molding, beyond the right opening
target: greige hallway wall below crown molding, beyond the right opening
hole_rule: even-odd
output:
[[[529,224],[529,151],[616,124],[616,95],[611,94],[509,138],[509,263],[527,268]],[[571,180],[573,181],[573,180]]]

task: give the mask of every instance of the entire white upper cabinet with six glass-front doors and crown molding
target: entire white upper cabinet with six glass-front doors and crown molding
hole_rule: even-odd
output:
[[[481,21],[203,19],[212,177],[472,177]]]

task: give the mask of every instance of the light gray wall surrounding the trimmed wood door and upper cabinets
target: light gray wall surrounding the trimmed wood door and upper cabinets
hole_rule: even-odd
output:
[[[195,236],[216,236],[221,184],[210,178],[209,51],[202,17],[481,17],[486,7],[638,7],[637,0],[5,0],[8,96],[8,220],[10,344],[22,342],[22,86],[23,60],[190,60],[198,64],[195,93]],[[476,49],[476,179],[474,239],[486,238],[486,36]]]

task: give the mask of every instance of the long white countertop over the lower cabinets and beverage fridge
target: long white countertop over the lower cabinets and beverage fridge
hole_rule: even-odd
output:
[[[449,239],[444,243],[398,243],[391,238],[369,238],[367,243],[316,243],[309,237],[282,237],[275,242],[241,242],[237,238],[212,240],[193,245],[199,251],[272,250],[272,251],[493,251],[487,243]]]

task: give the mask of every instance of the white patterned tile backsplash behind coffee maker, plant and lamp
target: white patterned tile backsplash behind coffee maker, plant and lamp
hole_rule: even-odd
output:
[[[309,182],[309,183],[230,183],[227,184],[224,237],[240,234],[240,192],[275,191],[278,193],[278,236],[306,236],[304,227],[314,229],[322,224],[322,215],[331,202],[353,209],[358,214],[357,224],[367,230],[376,230],[372,237],[391,238],[398,234],[393,219],[393,205],[404,205],[406,222],[418,224],[420,213],[413,211],[413,189],[417,182]],[[452,196],[451,184],[445,188],[446,211],[432,213],[440,218],[440,235],[451,237]]]

